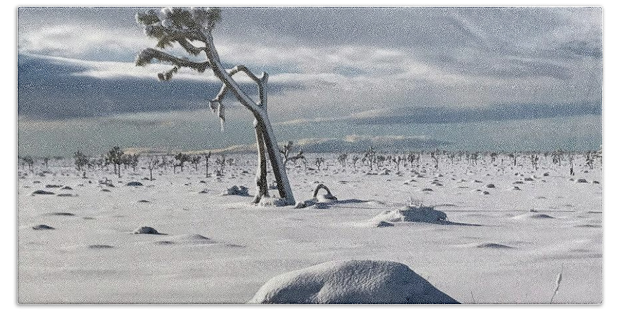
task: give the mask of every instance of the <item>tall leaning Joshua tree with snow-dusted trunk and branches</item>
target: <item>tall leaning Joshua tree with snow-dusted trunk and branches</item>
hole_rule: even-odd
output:
[[[268,196],[265,156],[267,153],[281,198],[278,204],[294,204],[294,195],[289,185],[283,159],[276,145],[274,130],[268,119],[268,73],[262,73],[258,77],[244,65],[236,65],[231,69],[223,67],[212,38],[212,31],[221,20],[221,10],[218,8],[165,8],[160,11],[149,9],[146,12],[136,14],[135,18],[138,23],[144,26],[146,36],[158,40],[156,46],[160,49],[165,49],[177,43],[193,57],[199,57],[204,52],[205,60],[194,61],[186,57],[167,54],[160,49],[148,48],[139,52],[135,64],[146,66],[153,60],[159,60],[161,63],[173,65],[170,70],[159,73],[161,81],[172,79],[173,75],[181,68],[190,68],[198,73],[204,73],[205,70],[211,69],[223,83],[220,92],[210,100],[210,108],[218,112],[221,123],[225,121],[223,98],[229,92],[242,106],[251,111],[255,118],[253,124],[255,126],[259,162],[256,178],[257,194],[255,194],[253,202],[258,203],[262,198]],[[199,45],[194,45],[195,42],[198,42]],[[240,88],[238,82],[234,80],[234,74],[240,72],[249,76],[257,84],[259,100],[249,97]]]

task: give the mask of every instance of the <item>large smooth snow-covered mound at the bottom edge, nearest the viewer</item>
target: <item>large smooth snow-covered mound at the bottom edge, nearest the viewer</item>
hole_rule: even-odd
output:
[[[248,303],[458,302],[402,263],[347,260],[276,276]]]

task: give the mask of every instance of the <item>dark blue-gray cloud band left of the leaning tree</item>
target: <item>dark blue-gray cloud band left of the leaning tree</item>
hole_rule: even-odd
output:
[[[18,114],[22,118],[68,119],[148,111],[197,110],[220,89],[220,83],[194,80],[168,82],[152,78],[101,79],[79,75],[86,66],[31,55],[18,57]],[[242,85],[256,95],[252,85]],[[271,94],[293,89],[276,84]],[[231,97],[231,95],[230,95]],[[227,100],[227,102],[233,102]]]

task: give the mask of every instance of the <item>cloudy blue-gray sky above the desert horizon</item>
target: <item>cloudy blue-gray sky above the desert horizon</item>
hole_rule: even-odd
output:
[[[254,143],[231,97],[225,131],[206,110],[212,74],[135,67],[155,44],[141,10],[19,9],[20,154]],[[226,65],[270,73],[277,138],[307,151],[602,144],[598,7],[223,8],[215,44]]]

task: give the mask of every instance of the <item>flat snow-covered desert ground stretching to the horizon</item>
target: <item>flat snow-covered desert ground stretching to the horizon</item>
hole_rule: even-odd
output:
[[[296,201],[325,183],[339,199],[326,209],[220,196],[233,185],[253,194],[254,155],[228,156],[236,164],[219,178],[206,177],[203,164],[197,172],[157,169],[153,181],[139,167],[122,178],[112,167],[82,178],[70,160],[37,166],[44,177],[20,170],[19,302],[245,303],[278,274],[352,259],[404,263],[462,303],[549,303],[560,272],[553,303],[602,302],[600,164],[577,165],[570,177],[568,165],[548,158],[538,170],[487,158],[442,159],[436,170],[423,158],[399,175],[393,164],[387,175],[383,167],[366,175],[367,166],[342,167],[336,154],[308,154],[309,167],[318,156],[326,159],[321,170],[288,164],[289,178]],[[105,177],[114,187],[99,185]],[[126,185],[134,181],[143,186]],[[370,221],[410,199],[445,212],[449,223]],[[131,234],[141,226],[162,234]]]

